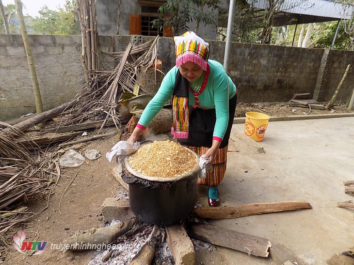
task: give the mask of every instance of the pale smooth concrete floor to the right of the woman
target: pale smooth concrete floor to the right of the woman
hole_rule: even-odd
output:
[[[243,129],[244,124],[233,125],[219,186],[222,205],[305,200],[313,209],[211,223],[283,243],[309,265],[326,264],[333,254],[353,247],[354,209],[336,204],[354,199],[343,185],[354,180],[354,117],[271,121],[259,143]],[[270,258],[219,249],[227,264],[274,264]]]

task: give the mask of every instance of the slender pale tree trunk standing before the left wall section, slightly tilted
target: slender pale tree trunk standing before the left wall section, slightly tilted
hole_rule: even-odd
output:
[[[35,100],[35,106],[36,106],[36,113],[38,114],[38,113],[43,112],[43,103],[42,103],[41,92],[39,90],[38,79],[37,79],[37,74],[36,74],[36,70],[35,70],[35,66],[34,66],[34,61],[33,61],[33,57],[32,57],[31,44],[30,44],[30,40],[28,38],[25,20],[23,18],[23,14],[22,14],[22,2],[20,0],[15,0],[15,4],[16,4],[16,10],[17,10],[17,15],[18,15],[18,21],[20,23],[23,44],[25,45],[27,62],[28,62],[28,66],[30,68],[30,73],[31,73],[31,81],[32,81],[32,88],[33,88],[33,94],[34,94],[34,100]]]

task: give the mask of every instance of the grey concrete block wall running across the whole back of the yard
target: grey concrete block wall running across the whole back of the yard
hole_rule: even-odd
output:
[[[132,36],[99,36],[99,50],[124,51]],[[142,36],[144,42],[154,37]],[[72,99],[83,85],[80,36],[31,35],[45,110]],[[207,40],[210,59],[223,63],[225,42]],[[172,38],[160,38],[159,58],[164,73],[174,66]],[[313,95],[323,50],[264,44],[232,43],[229,75],[238,88],[239,102],[287,102],[294,93]],[[100,53],[105,67],[112,58]],[[331,99],[353,51],[330,51],[324,76],[323,101]],[[154,82],[150,82],[155,86]],[[157,85],[158,86],[158,85]],[[354,67],[338,94],[346,102],[354,87]],[[35,111],[31,76],[20,35],[0,35],[0,120],[18,118]]]

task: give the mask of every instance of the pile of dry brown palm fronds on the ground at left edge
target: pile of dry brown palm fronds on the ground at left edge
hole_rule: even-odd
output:
[[[12,225],[27,220],[33,213],[20,204],[37,194],[60,177],[56,163],[51,161],[23,132],[0,122],[0,233]],[[19,140],[26,139],[31,150]]]

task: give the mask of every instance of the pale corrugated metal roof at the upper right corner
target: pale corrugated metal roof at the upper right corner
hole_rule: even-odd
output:
[[[249,4],[253,2],[259,9],[269,7],[269,0],[247,0],[247,2]],[[354,14],[353,5],[343,5],[341,2],[330,0],[285,0],[279,10],[283,15],[289,15],[292,18],[303,15],[307,16],[306,20],[309,20],[309,16],[313,17],[312,22],[350,19]]]

